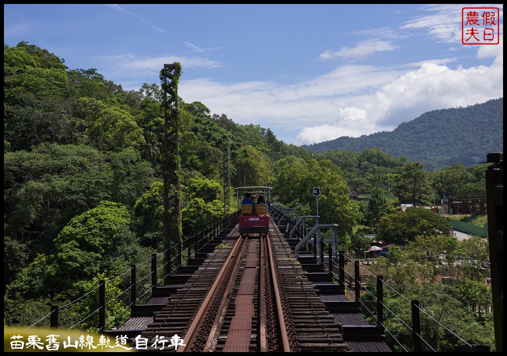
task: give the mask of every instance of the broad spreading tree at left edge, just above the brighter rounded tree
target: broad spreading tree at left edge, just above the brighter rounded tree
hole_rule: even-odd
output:
[[[113,171],[91,147],[41,144],[4,155],[4,231],[39,253],[74,216],[111,198]],[[49,250],[48,250],[49,248]]]

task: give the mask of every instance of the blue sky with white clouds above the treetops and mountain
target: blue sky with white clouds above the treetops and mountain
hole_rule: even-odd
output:
[[[499,8],[498,45],[462,44],[464,7]],[[179,62],[185,102],[297,145],[503,97],[502,4],[4,4],[21,41],[124,90]]]

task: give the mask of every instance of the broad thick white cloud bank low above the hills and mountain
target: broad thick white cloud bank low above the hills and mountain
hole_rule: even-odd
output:
[[[299,130],[296,144],[310,144],[392,131],[426,111],[501,97],[501,51],[494,53],[500,56],[489,67],[450,69],[439,64],[452,58],[423,62],[408,71],[400,69],[404,66],[347,65],[292,85],[182,80],[178,94],[238,124],[256,123],[275,133]]]

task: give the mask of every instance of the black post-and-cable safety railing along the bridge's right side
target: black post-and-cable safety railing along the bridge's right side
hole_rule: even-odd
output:
[[[435,330],[439,331],[438,342],[446,343],[448,340],[452,340],[450,342],[458,350],[465,352],[489,351],[488,345],[477,345],[462,339],[456,331],[443,325],[438,318],[434,318],[433,310],[424,310],[419,300],[406,298],[387,284],[382,275],[372,273],[371,267],[375,265],[375,259],[369,260],[368,266],[365,266],[361,264],[361,260],[351,258],[352,255],[342,250],[336,251],[340,247],[340,238],[338,238],[338,242],[325,239],[323,236],[317,238],[318,218],[316,221],[314,220],[313,226],[308,226],[308,224],[304,224],[306,219],[303,217],[297,220],[293,219],[289,213],[292,213],[290,208],[272,207],[272,216],[278,219],[278,226],[285,227],[286,240],[288,242],[295,241],[300,245],[298,248],[301,249],[306,246],[306,251],[311,252],[317,263],[323,265],[324,273],[328,273],[338,285],[338,290],[341,291],[339,293],[346,294],[351,303],[356,303],[355,305],[360,307],[361,314],[372,324],[362,326],[362,328],[375,328],[375,332],[385,335],[389,344],[395,345],[396,351],[438,352],[438,345],[432,345],[430,341],[427,341],[427,339],[435,341]],[[310,232],[314,233],[313,239],[308,236],[308,230],[312,229],[313,231]],[[328,236],[326,235],[326,237]],[[351,269],[350,267],[345,268],[348,264],[353,266],[353,272],[347,272],[346,269]],[[386,295],[398,297],[401,300],[399,303],[406,303],[404,310],[410,310],[410,312],[408,314],[402,312],[403,308],[399,305],[386,305],[384,303]],[[393,325],[396,325],[395,329],[392,328]],[[343,326],[343,328],[345,335],[354,327]],[[405,330],[400,332],[398,330],[400,328]],[[401,338],[400,335],[405,335],[405,337]]]

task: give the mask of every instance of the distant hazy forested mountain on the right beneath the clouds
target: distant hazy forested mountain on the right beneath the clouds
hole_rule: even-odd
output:
[[[466,166],[486,160],[490,152],[503,152],[503,98],[467,107],[428,111],[392,132],[302,146],[310,151],[340,149],[361,152],[380,148],[393,156],[406,156],[427,170],[461,162]]]

